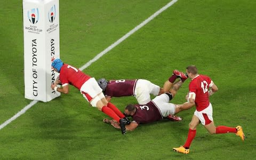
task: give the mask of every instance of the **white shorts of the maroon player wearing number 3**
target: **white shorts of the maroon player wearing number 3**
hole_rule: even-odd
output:
[[[175,105],[169,102],[170,98],[167,94],[158,95],[152,101],[155,103],[163,117],[175,114]]]

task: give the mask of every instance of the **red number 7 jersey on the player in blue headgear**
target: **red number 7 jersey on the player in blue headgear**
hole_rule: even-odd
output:
[[[60,69],[60,81],[62,86],[71,84],[80,90],[81,86],[90,78],[89,75],[84,74],[81,70],[68,64],[63,64]]]

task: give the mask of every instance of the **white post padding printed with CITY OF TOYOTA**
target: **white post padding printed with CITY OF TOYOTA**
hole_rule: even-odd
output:
[[[43,102],[59,97],[51,84],[60,58],[59,0],[23,0],[25,98]]]

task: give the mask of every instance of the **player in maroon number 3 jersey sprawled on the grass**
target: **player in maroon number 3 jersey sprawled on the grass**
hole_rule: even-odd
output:
[[[127,105],[125,107],[125,115],[132,117],[132,122],[126,125],[127,131],[133,131],[139,124],[146,124],[159,121],[164,118],[172,121],[181,121],[179,116],[173,116],[181,111],[179,105],[170,103],[169,101],[175,96],[182,82],[174,83],[171,93],[158,95],[146,105]],[[114,120],[103,119],[103,122],[111,123],[115,128],[120,129],[118,123]]]

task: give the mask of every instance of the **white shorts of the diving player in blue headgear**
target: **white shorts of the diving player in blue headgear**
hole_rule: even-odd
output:
[[[102,89],[101,87],[98,85],[98,82],[95,80],[95,78],[90,78],[88,79],[81,87],[80,89],[80,92],[81,94],[83,94],[84,98],[88,101],[88,102],[91,102],[92,99],[94,99],[95,97],[97,97],[97,95],[99,93],[102,93]],[[103,94],[103,93],[102,93]],[[99,97],[99,96],[98,96]],[[101,95],[102,97],[102,95]],[[105,97],[103,95],[103,97]],[[95,99],[98,99],[98,98],[95,98]],[[100,100],[100,98],[99,98]],[[97,100],[98,102],[98,100]],[[96,103],[97,102],[94,102],[93,104],[91,103],[91,105],[93,107],[96,107]]]

